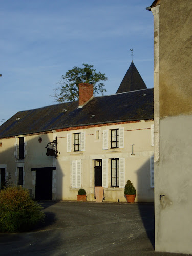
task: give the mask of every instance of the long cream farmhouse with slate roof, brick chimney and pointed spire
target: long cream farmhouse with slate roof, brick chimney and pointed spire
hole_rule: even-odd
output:
[[[116,94],[93,96],[79,84],[79,100],[19,111],[0,126],[1,183],[29,189],[37,200],[76,200],[84,188],[95,201],[125,202],[128,179],[136,201],[154,201],[153,88],[133,61]]]

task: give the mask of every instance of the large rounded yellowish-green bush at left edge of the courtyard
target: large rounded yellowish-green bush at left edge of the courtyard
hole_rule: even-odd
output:
[[[7,187],[0,191],[0,232],[30,230],[45,218],[42,207],[34,202],[28,190],[22,187]]]

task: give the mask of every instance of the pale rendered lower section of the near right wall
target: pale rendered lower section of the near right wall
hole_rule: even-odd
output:
[[[161,161],[155,166],[157,251],[192,253],[191,131],[192,115],[160,122]],[[165,196],[160,199],[160,195]]]

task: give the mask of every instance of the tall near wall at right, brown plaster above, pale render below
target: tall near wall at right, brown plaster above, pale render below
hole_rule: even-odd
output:
[[[190,253],[190,0],[161,0],[154,15],[155,249]]]

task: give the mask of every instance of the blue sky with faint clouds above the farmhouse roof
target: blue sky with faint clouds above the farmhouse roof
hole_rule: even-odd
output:
[[[153,87],[152,0],[6,0],[0,8],[0,121],[56,104],[61,76],[82,63],[115,94],[133,61]],[[0,122],[0,125],[3,122]]]

